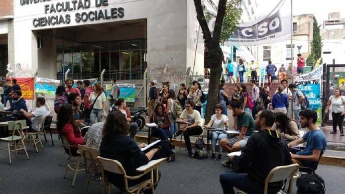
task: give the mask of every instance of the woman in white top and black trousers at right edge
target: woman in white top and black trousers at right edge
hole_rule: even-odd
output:
[[[328,99],[326,111],[329,112],[329,106],[332,105],[332,124],[333,131],[330,134],[336,134],[336,126],[339,126],[340,136],[344,135],[342,123],[345,115],[345,96],[340,95],[340,89],[336,88],[334,90],[334,95],[331,95]]]

